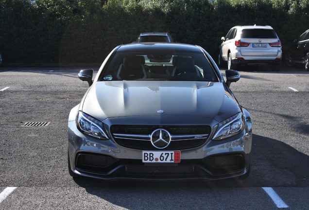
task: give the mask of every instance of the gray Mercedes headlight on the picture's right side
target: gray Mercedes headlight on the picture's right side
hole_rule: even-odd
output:
[[[239,134],[243,129],[243,117],[242,113],[233,115],[218,124],[217,131],[213,137],[213,140],[222,140],[236,134]]]

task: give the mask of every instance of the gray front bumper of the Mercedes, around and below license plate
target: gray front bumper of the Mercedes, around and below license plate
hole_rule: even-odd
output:
[[[251,162],[252,134],[244,129],[229,139],[207,140],[194,149],[181,151],[180,163],[142,163],[142,151],[99,140],[81,133],[69,121],[71,170],[101,179],[223,179],[245,175]]]

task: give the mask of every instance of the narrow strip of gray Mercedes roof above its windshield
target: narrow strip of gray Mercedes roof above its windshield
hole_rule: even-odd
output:
[[[201,48],[197,45],[180,44],[180,43],[159,43],[159,42],[140,42],[120,45],[118,52],[123,51],[147,51],[147,50],[173,50],[173,51],[190,51],[201,52]]]

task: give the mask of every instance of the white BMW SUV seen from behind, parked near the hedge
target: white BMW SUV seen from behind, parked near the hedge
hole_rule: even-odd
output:
[[[281,68],[281,41],[271,26],[235,26],[221,40],[218,64],[227,62],[229,70],[247,64]]]

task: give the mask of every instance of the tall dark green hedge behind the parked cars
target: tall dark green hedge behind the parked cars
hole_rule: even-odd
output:
[[[3,62],[99,62],[141,32],[217,57],[235,25],[271,25],[283,49],[309,27],[309,0],[0,0]]]

